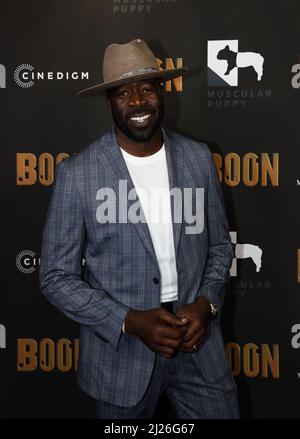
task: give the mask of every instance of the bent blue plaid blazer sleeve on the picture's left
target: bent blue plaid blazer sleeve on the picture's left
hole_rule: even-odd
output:
[[[92,288],[82,280],[84,213],[68,161],[57,166],[43,232],[40,288],[62,313],[89,326],[117,349],[129,308],[113,300],[101,287]]]

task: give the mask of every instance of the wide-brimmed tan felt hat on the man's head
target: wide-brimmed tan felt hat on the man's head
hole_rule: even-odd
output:
[[[161,70],[148,45],[137,38],[126,44],[108,46],[103,60],[104,82],[79,91],[77,96],[95,96],[109,88],[134,81],[155,78],[161,78],[164,81],[177,78],[186,71],[186,67]]]

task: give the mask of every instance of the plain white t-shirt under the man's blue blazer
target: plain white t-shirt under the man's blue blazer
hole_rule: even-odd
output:
[[[161,302],[177,300],[170,187],[165,145],[155,154],[137,157],[121,148],[148,224],[161,275]]]

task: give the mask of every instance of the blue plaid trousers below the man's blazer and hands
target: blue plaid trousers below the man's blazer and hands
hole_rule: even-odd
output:
[[[98,419],[152,419],[158,399],[164,394],[171,403],[170,419],[238,419],[234,379],[229,372],[213,383],[204,381],[192,353],[178,352],[173,358],[156,355],[148,388],[133,407],[96,400]]]

